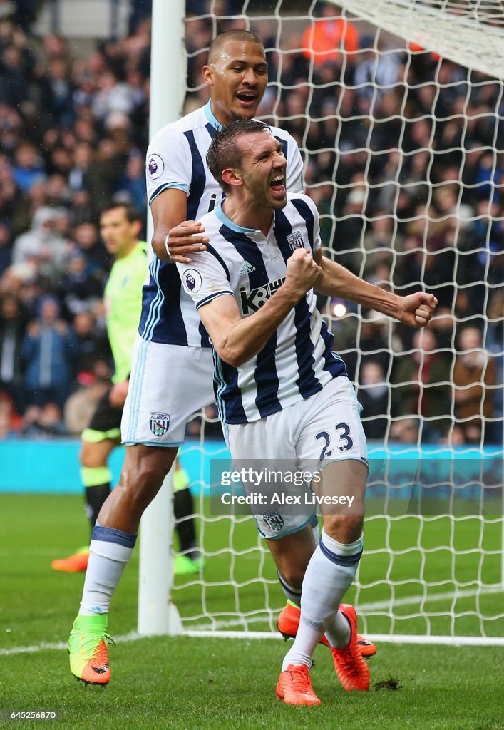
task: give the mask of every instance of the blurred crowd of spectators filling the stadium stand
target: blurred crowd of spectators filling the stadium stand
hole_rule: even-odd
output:
[[[235,6],[217,4],[223,15]],[[187,7],[194,91],[186,111],[207,100],[199,50],[215,31],[197,18],[205,3]],[[401,293],[423,282],[439,300],[423,334],[375,312],[358,317],[346,302],[320,302],[359,383],[364,430],[382,438],[392,412],[391,436],[403,442],[494,442],[504,310],[504,158],[492,151],[504,131],[500,85],[477,73],[468,85],[465,69],[429,53],[377,53],[373,37],[329,13],[334,7],[321,4],[332,47],[345,52],[317,55],[311,26],[299,27],[283,39],[285,53],[268,53],[276,83],[259,112],[275,115],[304,150],[308,194],[337,260]],[[222,20],[218,30],[237,24]],[[270,24],[251,27],[275,49]],[[0,438],[79,434],[110,378],[102,291],[112,262],[97,222],[112,201],[145,210],[149,72],[150,20],[141,13],[128,37],[100,42],[86,58],[56,34],[37,39],[0,17]],[[196,435],[200,424],[188,428]],[[218,435],[218,424],[210,428]]]

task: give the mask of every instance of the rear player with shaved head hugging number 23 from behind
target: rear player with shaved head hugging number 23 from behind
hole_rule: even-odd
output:
[[[213,401],[210,343],[191,299],[181,291],[169,249],[177,261],[190,261],[195,247],[205,247],[206,237],[193,234],[199,233],[199,218],[222,197],[205,155],[219,126],[256,113],[267,85],[260,39],[242,30],[219,35],[203,73],[209,103],[162,128],[146,159],[154,256],[121,423],[126,456],[118,487],[93,529],[83,599],[69,641],[70,669],[85,682],[110,680],[110,599],[133,551],[140,517],[172,466],[187,420]],[[297,143],[281,129],[274,133],[289,160],[289,188],[301,191]]]

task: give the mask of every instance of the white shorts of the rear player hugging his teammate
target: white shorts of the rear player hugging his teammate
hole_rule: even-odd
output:
[[[210,347],[137,336],[121,420],[123,444],[180,446],[191,415],[214,401]]]

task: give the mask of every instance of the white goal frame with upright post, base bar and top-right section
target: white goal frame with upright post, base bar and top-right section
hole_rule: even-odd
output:
[[[485,45],[489,48],[489,52],[476,56],[470,53],[468,42],[469,33],[471,31],[474,34],[474,28],[468,28],[469,23],[463,19],[457,23],[443,19],[436,9],[436,5],[443,4],[446,0],[424,0],[424,4],[416,0],[329,0],[329,2],[355,12],[360,18],[369,20],[375,26],[399,35],[397,24],[392,23],[387,10],[393,5],[394,11],[402,14],[402,37],[406,40],[423,45],[427,50],[438,52],[469,69],[504,78],[504,18],[502,28],[485,29]],[[413,9],[412,5],[415,6]],[[153,0],[150,137],[161,126],[177,120],[182,114],[186,79],[184,18],[184,0]],[[437,35],[429,31],[433,26],[437,26],[439,30],[440,23],[441,41]],[[420,24],[421,34],[418,32]],[[457,30],[455,34],[454,28]],[[496,55],[500,58],[498,64],[495,63]],[[280,634],[263,631],[184,631],[180,616],[171,600],[172,521],[172,477],[169,475],[159,495],[146,510],[140,528],[138,633],[143,636],[185,634],[199,637],[281,638]],[[504,637],[375,634],[370,635],[370,638],[376,642],[400,644],[504,646]]]

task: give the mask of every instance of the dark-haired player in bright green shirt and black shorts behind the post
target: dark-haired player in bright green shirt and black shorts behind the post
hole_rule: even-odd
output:
[[[86,512],[91,529],[107,496],[110,494],[112,475],[107,465],[112,450],[121,443],[121,417],[126,400],[131,370],[134,339],[138,331],[142,309],[142,285],[148,276],[148,244],[140,241],[142,221],[129,206],[120,204],[107,208],[100,215],[100,233],[107,251],[115,258],[104,291],[107,335],[112,348],[115,372],[112,385],[102,396],[88,428],[81,436],[80,475],[85,487]],[[196,534],[188,477],[180,467],[175,472],[175,518],[180,549],[185,555],[175,561],[175,572],[199,569],[196,552]],[[194,560],[191,557],[194,556]],[[88,565],[88,547],[75,555],[51,564],[62,572],[85,571]]]

